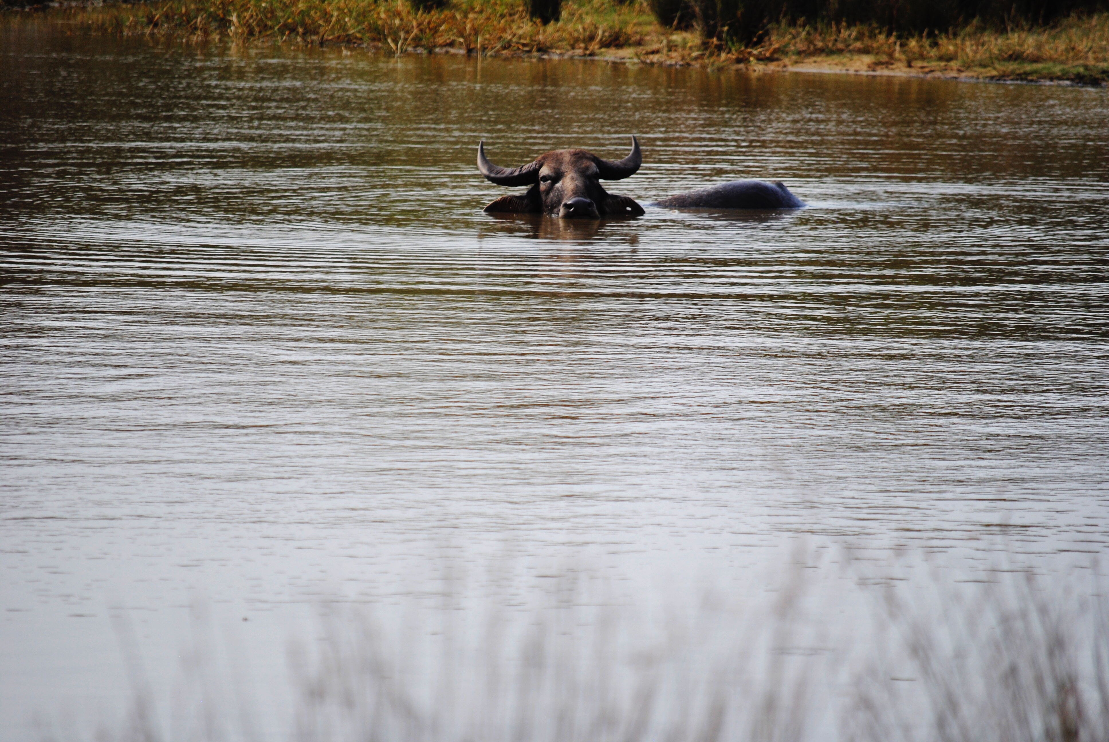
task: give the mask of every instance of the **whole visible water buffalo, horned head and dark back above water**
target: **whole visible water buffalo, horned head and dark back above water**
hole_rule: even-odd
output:
[[[602,160],[584,150],[556,150],[519,167],[499,167],[478,144],[478,170],[497,185],[529,185],[518,196],[501,196],[486,212],[548,214],[560,218],[640,216],[643,207],[628,196],[608,193],[601,181],[619,181],[635,174],[643,163],[639,140],[631,138],[631,154],[623,160]],[[804,206],[782,183],[733,181],[663,199],[654,206],[673,209],[800,209]]]

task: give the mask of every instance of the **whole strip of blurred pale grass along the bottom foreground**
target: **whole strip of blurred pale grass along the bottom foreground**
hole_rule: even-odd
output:
[[[243,678],[221,681],[211,640],[183,648],[192,679],[175,683],[172,699],[155,698],[120,611],[132,710],[96,739],[1109,739],[1109,621],[1096,566],[1066,579],[1003,568],[953,581],[905,555],[798,551],[791,562],[700,597],[621,597],[571,568],[554,581],[546,570],[542,586],[445,580],[372,607],[325,601],[318,626],[291,644],[288,708],[265,691],[264,709],[242,707]],[[235,626],[194,616],[208,624],[195,637]],[[166,723],[171,702],[189,711]]]

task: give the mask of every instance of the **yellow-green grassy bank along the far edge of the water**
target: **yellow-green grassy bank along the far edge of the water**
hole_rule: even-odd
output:
[[[397,54],[557,54],[756,70],[1109,82],[1109,13],[1007,29],[971,22],[939,34],[895,34],[874,24],[777,23],[750,44],[661,26],[644,0],[568,0],[561,20],[548,24],[530,19],[520,0],[454,0],[429,10],[397,0],[154,0],[48,14],[98,32],[359,44]]]

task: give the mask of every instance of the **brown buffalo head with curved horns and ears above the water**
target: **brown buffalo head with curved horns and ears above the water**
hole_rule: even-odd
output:
[[[610,162],[584,150],[556,150],[519,167],[498,167],[478,144],[478,170],[497,185],[530,185],[519,196],[501,196],[485,207],[487,212],[549,214],[560,218],[640,216],[642,206],[601,187],[601,181],[619,181],[639,170],[643,155],[639,141],[631,138],[631,154]]]

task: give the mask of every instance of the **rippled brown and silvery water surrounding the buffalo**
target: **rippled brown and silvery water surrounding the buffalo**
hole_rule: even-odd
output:
[[[276,647],[506,553],[1106,550],[1106,90],[0,33],[6,719],[125,695],[120,607],[165,669],[196,600]],[[610,192],[808,206],[481,212],[478,140],[632,133]]]

